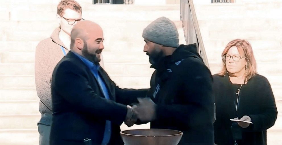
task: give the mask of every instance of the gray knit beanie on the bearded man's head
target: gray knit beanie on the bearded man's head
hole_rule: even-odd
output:
[[[142,37],[163,46],[179,46],[177,28],[173,21],[166,17],[160,17],[149,24],[143,30]]]

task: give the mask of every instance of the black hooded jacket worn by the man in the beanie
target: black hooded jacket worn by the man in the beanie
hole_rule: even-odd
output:
[[[151,78],[157,104],[151,128],[180,130],[179,144],[213,144],[212,75],[194,45],[181,45],[164,57]]]

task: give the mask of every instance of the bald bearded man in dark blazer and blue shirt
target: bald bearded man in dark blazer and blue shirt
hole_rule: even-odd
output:
[[[70,52],[53,71],[50,144],[123,144],[119,126],[137,120],[129,104],[147,89],[120,89],[99,67],[103,30],[91,21],[77,23]]]

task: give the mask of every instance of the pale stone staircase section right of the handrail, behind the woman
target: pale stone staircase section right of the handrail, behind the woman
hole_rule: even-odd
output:
[[[201,35],[211,72],[221,69],[221,53],[228,42],[248,40],[254,50],[258,73],[270,82],[278,109],[268,130],[268,144],[282,142],[282,13],[281,0],[236,0],[236,3],[195,2]]]

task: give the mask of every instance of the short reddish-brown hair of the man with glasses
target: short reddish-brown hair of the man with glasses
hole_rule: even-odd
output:
[[[71,10],[74,10],[78,13],[82,13],[81,6],[79,5],[78,2],[76,2],[74,0],[63,0],[63,1],[61,1],[58,4],[58,7],[57,7],[57,14],[62,16],[66,9],[71,9]]]

